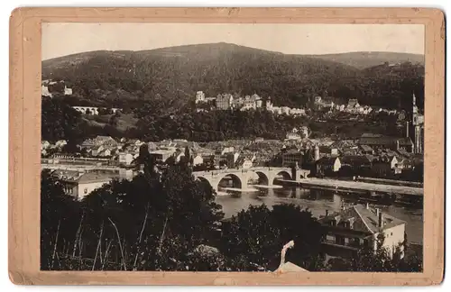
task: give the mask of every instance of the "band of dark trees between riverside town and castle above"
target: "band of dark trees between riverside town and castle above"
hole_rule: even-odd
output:
[[[276,115],[267,111],[212,111],[168,113],[160,99],[146,102],[134,110],[135,123],[121,129],[124,114],[91,115],[82,118],[64,99],[42,98],[42,139],[81,141],[96,135],[137,138],[145,141],[187,139],[189,141],[223,141],[230,139],[285,139],[294,127],[307,125],[312,137],[338,134],[355,138],[363,132],[401,136],[393,127],[391,116],[378,116],[378,123],[353,121],[318,121],[315,114],[306,116]],[[103,110],[102,110],[103,111]],[[129,116],[128,114],[127,116]]]

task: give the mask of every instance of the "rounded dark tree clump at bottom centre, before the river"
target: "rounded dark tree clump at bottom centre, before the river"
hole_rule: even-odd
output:
[[[321,269],[317,259],[321,226],[308,210],[299,206],[275,205],[271,211],[266,205],[251,205],[226,221],[222,230],[220,250],[230,259],[242,257],[242,269],[276,269],[281,248],[291,240],[295,248],[288,253],[288,260]]]

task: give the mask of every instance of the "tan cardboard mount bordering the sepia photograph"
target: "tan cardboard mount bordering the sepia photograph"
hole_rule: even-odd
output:
[[[425,25],[424,271],[41,271],[41,23]],[[74,36],[77,38],[78,36]],[[345,36],[344,36],[345,37]],[[345,40],[344,40],[345,41]],[[426,286],[444,277],[445,17],[433,8],[17,8],[10,18],[9,278],[20,285]]]

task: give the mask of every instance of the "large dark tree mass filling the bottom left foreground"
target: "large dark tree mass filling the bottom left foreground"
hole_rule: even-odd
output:
[[[42,173],[43,269],[186,270],[198,245],[216,238],[224,214],[213,189],[183,165],[155,171],[143,153],[151,169],[81,202]],[[204,269],[198,265],[189,269]]]

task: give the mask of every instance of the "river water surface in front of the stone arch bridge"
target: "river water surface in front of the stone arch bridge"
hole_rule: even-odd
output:
[[[294,204],[300,205],[316,217],[339,211],[343,204],[362,203],[359,196],[342,195],[330,190],[305,189],[301,187],[260,188],[257,192],[227,192],[228,196],[216,196],[216,203],[223,206],[226,217],[237,214],[249,205]],[[364,203],[362,203],[364,204]],[[397,205],[370,202],[383,212],[405,221],[406,233],[410,242],[423,242],[423,209],[421,205]]]

